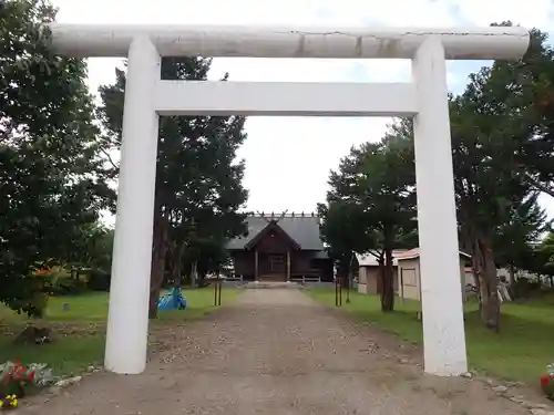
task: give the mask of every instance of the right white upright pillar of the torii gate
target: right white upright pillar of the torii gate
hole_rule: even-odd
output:
[[[412,60],[424,370],[468,371],[444,46],[429,37]]]

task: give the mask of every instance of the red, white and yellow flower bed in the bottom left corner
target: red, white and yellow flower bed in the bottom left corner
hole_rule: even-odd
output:
[[[6,362],[0,365],[0,409],[18,407],[19,400],[55,382],[47,364]]]

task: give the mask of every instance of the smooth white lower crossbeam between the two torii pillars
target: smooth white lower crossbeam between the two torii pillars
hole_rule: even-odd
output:
[[[411,83],[392,82],[160,81],[155,106],[160,115],[412,116],[418,113],[416,87]]]

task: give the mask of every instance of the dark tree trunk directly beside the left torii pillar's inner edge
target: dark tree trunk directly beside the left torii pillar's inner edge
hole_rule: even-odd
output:
[[[164,281],[165,257],[167,253],[167,220],[156,211],[152,243],[152,264],[150,272],[148,318],[157,318],[157,301]]]

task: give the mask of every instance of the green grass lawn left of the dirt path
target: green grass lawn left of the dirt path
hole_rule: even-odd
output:
[[[240,292],[226,288],[222,291],[222,305],[230,303]],[[195,320],[214,311],[212,288],[184,289],[188,310],[160,311],[155,325]],[[49,300],[45,323],[53,328],[54,342],[47,345],[13,344],[14,336],[30,322],[0,305],[0,362],[21,360],[24,363],[49,363],[58,374],[78,373],[90,364],[101,363],[104,354],[107,293],[85,293]],[[63,311],[63,304],[69,311]]]

